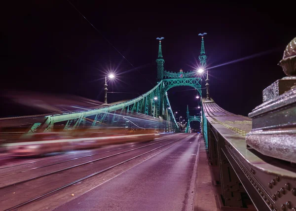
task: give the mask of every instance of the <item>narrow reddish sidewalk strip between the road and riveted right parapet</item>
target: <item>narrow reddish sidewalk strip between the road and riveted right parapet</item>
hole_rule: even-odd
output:
[[[215,199],[204,139],[200,139],[194,211],[221,211]]]

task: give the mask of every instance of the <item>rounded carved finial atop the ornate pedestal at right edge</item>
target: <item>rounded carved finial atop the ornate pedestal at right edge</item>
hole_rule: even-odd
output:
[[[283,59],[278,63],[286,75],[296,75],[296,37],[287,45]]]

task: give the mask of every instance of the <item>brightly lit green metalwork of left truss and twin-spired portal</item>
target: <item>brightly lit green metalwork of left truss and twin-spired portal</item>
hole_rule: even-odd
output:
[[[195,88],[201,96],[201,78],[196,77],[196,71],[184,72],[182,69],[179,72],[165,71],[161,49],[161,39],[163,37],[157,39],[159,39],[158,58],[156,59],[158,83],[147,93],[138,98],[114,105],[108,105],[106,102],[104,107],[101,108],[47,115],[44,116],[43,122],[34,124],[30,131],[51,131],[57,123],[59,125],[65,125],[65,130],[73,129],[85,126],[86,119],[87,124],[89,122],[91,123],[91,127],[106,125],[107,123],[108,125],[110,123],[119,125],[123,124],[120,116],[139,113],[166,121],[166,128],[164,128],[166,132],[179,131],[179,126],[169,103],[167,91],[173,87],[190,86]],[[202,65],[206,65],[206,58],[204,40],[202,38],[201,54],[199,56]],[[199,119],[199,117],[189,116],[187,124],[190,127],[190,121],[200,121]],[[124,125],[128,124],[124,121]]]

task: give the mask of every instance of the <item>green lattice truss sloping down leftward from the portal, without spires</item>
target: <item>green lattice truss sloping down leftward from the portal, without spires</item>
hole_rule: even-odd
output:
[[[63,123],[64,130],[75,129],[81,126],[84,127],[85,125],[90,125],[91,127],[106,124],[123,126],[125,124],[122,123],[125,121],[122,121],[122,118],[128,118],[128,120],[130,120],[131,117],[129,117],[129,115],[135,116],[140,114],[144,114],[144,117],[145,115],[152,116],[155,118],[155,121],[163,122],[163,130],[165,132],[176,132],[179,126],[173,115],[165,91],[170,87],[173,86],[167,87],[164,82],[160,81],[147,93],[130,101],[97,109],[47,115],[44,116],[43,122],[34,123],[29,133],[34,133],[37,130],[42,132],[51,131],[54,125],[59,123]],[[140,115],[139,118],[142,117],[143,116]]]

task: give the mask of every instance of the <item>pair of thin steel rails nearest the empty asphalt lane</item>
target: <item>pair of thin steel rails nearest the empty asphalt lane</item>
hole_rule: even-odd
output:
[[[157,146],[156,148],[152,148],[151,150],[148,150],[148,151],[145,151],[144,153],[141,153],[141,154],[136,154],[135,156],[132,156],[132,157],[130,157],[130,158],[128,158],[128,159],[124,159],[123,161],[120,161],[120,162],[116,162],[115,164],[113,164],[113,165],[110,165],[110,166],[107,166],[106,168],[103,168],[103,169],[101,169],[101,170],[99,170],[99,171],[95,171],[95,172],[93,172],[93,173],[91,173],[91,174],[87,174],[87,175],[85,175],[85,176],[81,176],[81,177],[79,177],[79,178],[76,178],[74,181],[68,181],[68,183],[66,183],[66,184],[61,184],[61,185],[59,185],[58,187],[56,187],[56,188],[54,188],[54,189],[52,189],[52,190],[48,190],[48,191],[46,191],[45,193],[41,193],[41,194],[39,194],[39,195],[37,195],[37,196],[32,196],[32,197],[29,197],[29,198],[27,198],[26,200],[23,200],[23,202],[22,203],[19,203],[19,204],[17,204],[17,205],[14,205],[14,206],[12,206],[12,207],[10,207],[10,208],[7,208],[7,205],[6,205],[6,208],[5,208],[5,211],[11,211],[11,210],[14,210],[14,209],[17,209],[17,208],[19,208],[19,207],[22,207],[22,206],[24,206],[24,205],[27,205],[27,204],[29,204],[29,203],[31,203],[31,202],[33,202],[33,201],[36,201],[36,200],[38,200],[38,199],[40,199],[40,198],[43,198],[43,197],[45,197],[45,196],[47,196],[47,195],[49,195],[49,194],[51,194],[51,193],[54,193],[54,192],[56,192],[56,191],[59,191],[59,190],[61,190],[61,189],[64,189],[64,188],[66,188],[66,187],[68,187],[68,186],[70,186],[70,185],[73,185],[73,184],[75,184],[75,183],[77,183],[77,182],[80,182],[80,181],[82,181],[82,180],[84,180],[84,179],[87,179],[87,178],[89,178],[89,177],[91,177],[91,176],[95,176],[95,175],[98,175],[98,174],[100,174],[100,173],[103,173],[103,172],[106,172],[106,171],[108,171],[108,170],[110,170],[111,168],[114,168],[114,167],[116,167],[116,166],[119,166],[119,165],[121,165],[121,164],[124,164],[124,163],[126,163],[126,162],[128,162],[128,161],[131,161],[131,160],[133,160],[133,159],[135,159],[135,158],[138,158],[138,157],[141,157],[141,156],[143,156],[143,155],[145,155],[145,154],[148,154],[148,153],[150,153],[150,152],[152,152],[152,151],[154,151],[154,150],[157,150],[157,149],[159,149],[159,148],[162,148],[162,147],[165,147],[165,146],[167,146],[167,145],[169,145],[169,144],[173,144],[172,146],[174,146],[174,145],[176,145],[176,144],[178,144],[178,143],[180,143],[181,141],[184,141],[186,138],[181,138],[181,137],[177,137],[177,138],[171,138],[171,140],[169,141],[169,143],[165,143],[165,144],[163,144],[163,145],[160,145],[160,146]],[[165,141],[168,141],[168,140],[165,140]],[[179,142],[178,142],[179,141]],[[164,142],[164,141],[161,141],[161,142]],[[157,143],[160,143],[161,144],[161,142],[157,142]],[[177,142],[177,143],[175,143],[175,142]],[[119,155],[119,154],[123,154],[123,153],[127,153],[127,152],[131,152],[131,151],[134,151],[134,150],[136,150],[136,149],[141,149],[141,148],[145,148],[145,147],[148,147],[148,146],[152,146],[152,145],[154,145],[154,144],[157,144],[157,143],[153,143],[153,144],[148,144],[148,145],[145,145],[145,146],[141,146],[141,147],[138,147],[138,148],[135,148],[135,149],[131,149],[131,150],[127,150],[127,151],[125,151],[125,152],[120,152],[120,153],[116,153],[116,154],[113,154],[113,155],[110,155],[110,156],[106,156],[106,157],[103,157],[103,158],[100,158],[100,159],[97,159],[96,161],[99,161],[99,160],[102,160],[102,159],[106,159],[106,158],[110,158],[110,157],[113,157],[113,156],[116,156],[116,155]],[[174,144],[175,143],[175,144]],[[170,147],[172,147],[172,146],[170,146]],[[170,148],[169,147],[169,148]],[[90,163],[90,162],[87,162],[87,163]],[[82,164],[82,165],[84,165],[84,164]],[[73,166],[72,168],[75,168],[75,167],[78,167],[78,166],[81,166],[81,165],[76,165],[76,166]],[[71,169],[72,169],[71,168]],[[66,169],[64,169],[63,171],[65,172],[66,170],[69,170],[70,168],[66,168]],[[51,174],[48,174],[48,175],[46,175],[46,176],[50,176],[50,175],[54,175],[54,174],[58,174],[58,173],[60,173],[61,171],[57,171],[57,172],[54,172],[54,173],[51,173]],[[70,173],[71,174],[71,173]],[[65,175],[67,175],[67,174],[65,174]],[[44,175],[45,176],[45,175]],[[44,177],[44,176],[42,176],[42,177]],[[61,177],[61,176],[60,176]],[[40,178],[40,177],[38,177],[38,178]],[[32,181],[32,180],[34,180],[34,182],[35,183],[37,183],[38,184],[38,182],[40,183],[40,181],[37,181],[38,180],[38,178],[31,178],[30,180],[25,180],[25,181],[22,181],[22,182],[20,182],[20,183],[16,183],[16,184],[12,184],[12,185],[9,185],[9,186],[5,186],[5,187],[2,187],[2,190],[5,190],[5,188],[15,188],[15,187],[17,187],[18,185],[22,185],[21,183],[23,183],[23,186],[24,187],[26,187],[26,185],[24,185],[24,183],[27,183],[27,182],[29,182],[29,181]],[[44,178],[43,178],[44,179]],[[52,178],[51,178],[52,179]],[[50,180],[50,179],[49,179]],[[30,184],[27,184],[27,187],[31,187],[30,186]],[[12,189],[11,189],[11,191],[12,191]],[[35,193],[35,192],[34,192]],[[3,194],[3,193],[2,193]],[[34,194],[33,194],[34,195]],[[19,202],[19,201],[17,201],[17,202]]]

